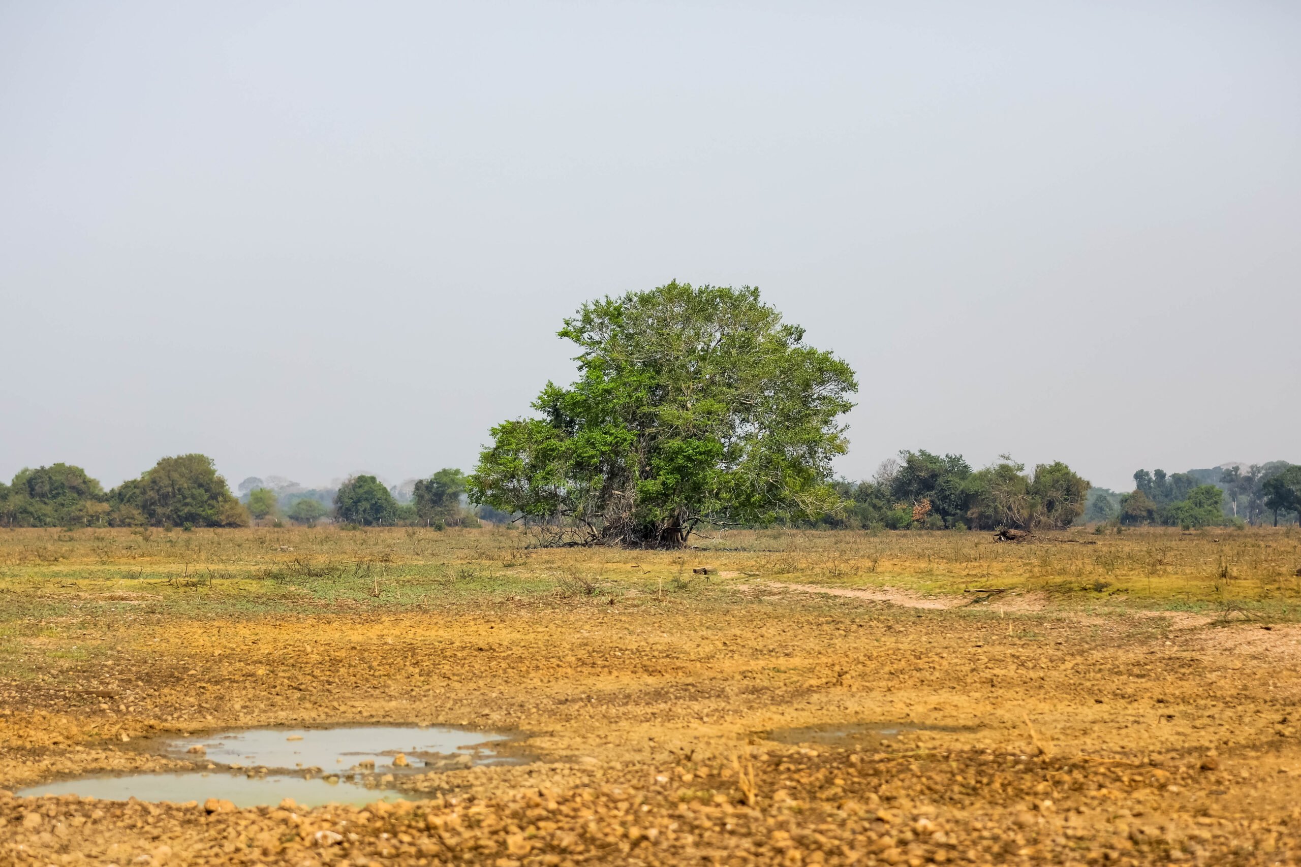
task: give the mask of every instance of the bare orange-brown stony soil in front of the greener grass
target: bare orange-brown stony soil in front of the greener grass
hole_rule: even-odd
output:
[[[36,655],[0,680],[0,863],[1301,858],[1294,625],[919,611],[726,582],[617,603],[65,616],[91,658]],[[410,775],[405,801],[367,809],[10,793],[187,767],[150,753],[163,734],[366,721],[514,731],[536,760]],[[890,721],[895,737],[769,740]]]

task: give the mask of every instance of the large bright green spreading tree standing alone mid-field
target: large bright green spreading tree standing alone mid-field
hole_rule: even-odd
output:
[[[579,378],[541,417],[506,421],[471,498],[557,539],[678,546],[701,523],[800,520],[839,507],[831,459],[857,389],[758,290],[691,286],[606,296],[565,320]]]

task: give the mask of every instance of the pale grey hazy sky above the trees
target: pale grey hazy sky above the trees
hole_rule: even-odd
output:
[[[1301,461],[1301,4],[0,3],[0,477],[470,468],[757,285],[852,446]]]

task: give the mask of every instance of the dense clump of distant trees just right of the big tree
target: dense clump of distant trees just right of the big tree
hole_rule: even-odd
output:
[[[817,525],[886,529],[1063,529],[1082,513],[1089,482],[1062,461],[1025,465],[1003,455],[972,469],[961,455],[900,451],[870,481],[840,481],[838,513]]]

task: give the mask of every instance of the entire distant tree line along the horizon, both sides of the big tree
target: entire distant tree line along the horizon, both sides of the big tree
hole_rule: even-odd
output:
[[[505,523],[511,515],[466,502],[467,477],[444,468],[385,487],[353,476],[337,489],[307,490],[288,480],[250,477],[237,499],[206,455],[164,458],[138,478],[105,491],[85,469],[53,464],[22,469],[0,484],[0,526],[248,526],[333,520],[356,526],[435,529]],[[961,455],[902,451],[870,481],[838,481],[840,507],[824,528],[1063,529],[1075,523],[1214,526],[1287,524],[1301,519],[1301,465],[1271,461],[1167,474],[1141,469],[1127,494],[1090,487],[1062,461],[1024,464],[1003,456],[973,471]]]

